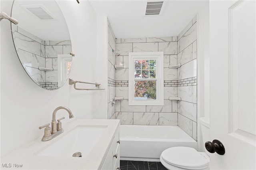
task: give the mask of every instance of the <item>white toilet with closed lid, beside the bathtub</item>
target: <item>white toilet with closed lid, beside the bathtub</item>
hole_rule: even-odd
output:
[[[203,142],[210,140],[210,119],[200,118]],[[206,150],[206,149],[205,149]],[[209,170],[209,152],[198,152],[194,148],[177,146],[164,150],[160,161],[168,170]]]

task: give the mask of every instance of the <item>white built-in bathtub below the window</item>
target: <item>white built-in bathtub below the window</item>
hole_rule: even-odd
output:
[[[197,142],[178,126],[120,125],[120,159],[160,161],[167,148],[188,146],[197,150]]]

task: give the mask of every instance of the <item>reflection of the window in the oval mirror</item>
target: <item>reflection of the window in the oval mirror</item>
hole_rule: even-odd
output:
[[[70,73],[72,56],[69,54],[58,54],[58,85],[64,84]]]

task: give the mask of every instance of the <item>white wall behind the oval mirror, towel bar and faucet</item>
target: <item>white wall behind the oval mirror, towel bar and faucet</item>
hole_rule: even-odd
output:
[[[1,12],[10,15],[12,1],[1,0]],[[96,61],[96,14],[88,1],[58,1],[64,13],[72,41],[73,57],[70,78],[101,83],[94,74]],[[65,85],[47,91],[36,85],[24,71],[12,42],[10,22],[1,21],[1,156],[43,135],[38,127],[50,123],[52,112],[58,106],[67,106],[76,118],[99,118],[92,114],[94,91],[76,91]],[[57,118],[67,113],[60,110]],[[65,130],[65,125],[63,125]]]

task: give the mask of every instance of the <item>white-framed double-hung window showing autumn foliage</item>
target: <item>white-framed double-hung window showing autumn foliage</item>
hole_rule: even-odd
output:
[[[129,53],[129,105],[164,105],[164,53]]]

